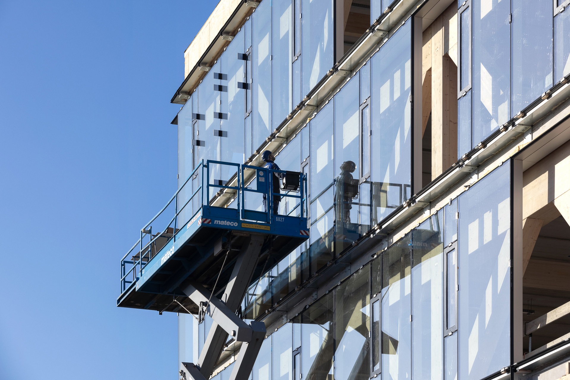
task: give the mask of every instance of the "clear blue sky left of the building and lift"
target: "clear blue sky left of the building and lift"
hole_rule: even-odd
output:
[[[0,0],[0,379],[177,378],[176,314],[117,308],[119,260],[176,191],[216,3]]]

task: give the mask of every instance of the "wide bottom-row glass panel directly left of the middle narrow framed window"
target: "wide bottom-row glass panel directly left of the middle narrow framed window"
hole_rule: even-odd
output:
[[[370,266],[335,291],[335,380],[370,377]]]

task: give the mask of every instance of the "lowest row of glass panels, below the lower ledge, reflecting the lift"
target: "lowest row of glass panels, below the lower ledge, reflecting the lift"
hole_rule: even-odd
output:
[[[509,366],[510,177],[491,171],[272,332],[252,380],[480,380]],[[211,325],[194,321],[179,319],[180,358]]]

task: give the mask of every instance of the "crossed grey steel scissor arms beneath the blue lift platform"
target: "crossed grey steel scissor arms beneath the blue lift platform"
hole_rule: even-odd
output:
[[[213,319],[213,325],[200,353],[198,363],[182,362],[180,374],[186,380],[205,380],[210,377],[214,365],[222,353],[228,334],[238,342],[244,342],[239,351],[237,362],[230,380],[247,380],[253,369],[266,334],[263,322],[253,321],[249,325],[235,314],[245,296],[247,287],[257,265],[263,236],[252,234],[249,242],[239,252],[230,281],[226,285],[222,300],[211,295],[211,291],[196,281],[187,281],[182,289],[198,308],[207,305],[206,314]]]

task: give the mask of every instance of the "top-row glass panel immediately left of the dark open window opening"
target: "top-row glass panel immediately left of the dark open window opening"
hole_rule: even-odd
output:
[[[302,97],[334,63],[332,0],[302,0]],[[256,11],[257,13],[257,11]]]

